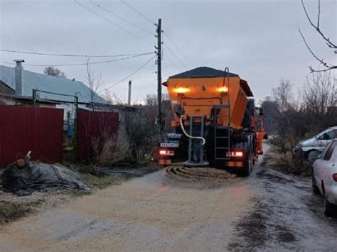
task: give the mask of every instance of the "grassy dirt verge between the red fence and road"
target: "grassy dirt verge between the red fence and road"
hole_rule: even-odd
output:
[[[0,226],[23,217],[43,212],[47,209],[55,208],[73,202],[77,197],[95,194],[97,190],[104,189],[111,185],[120,185],[122,182],[133,177],[142,177],[146,174],[158,170],[158,166],[150,163],[146,166],[138,167],[95,167],[95,175],[92,175],[92,168],[73,166],[83,182],[88,185],[89,190],[51,190],[48,192],[34,192],[32,195],[18,197],[14,193],[2,190],[0,170]],[[89,171],[89,172],[88,172]]]

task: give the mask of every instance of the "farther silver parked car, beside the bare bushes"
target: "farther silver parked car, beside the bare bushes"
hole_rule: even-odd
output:
[[[337,138],[337,126],[327,128],[313,138],[299,142],[293,149],[294,155],[305,159],[318,158],[328,144]]]

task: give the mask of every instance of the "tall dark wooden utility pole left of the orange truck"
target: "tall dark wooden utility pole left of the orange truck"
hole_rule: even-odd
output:
[[[161,114],[161,18],[158,19],[158,24],[157,26],[157,80],[158,80],[158,121],[157,123],[159,124],[159,141],[161,141],[161,119],[162,119],[162,114]]]

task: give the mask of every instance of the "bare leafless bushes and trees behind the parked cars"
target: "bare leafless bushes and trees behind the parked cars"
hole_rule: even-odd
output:
[[[328,72],[307,78],[294,99],[289,81],[282,80],[274,89],[274,97],[267,97],[262,107],[268,119],[268,130],[275,135],[270,140],[273,167],[294,175],[311,175],[309,160],[294,157],[292,149],[299,141],[315,136],[329,126],[337,125],[337,80]],[[269,114],[268,114],[269,113]]]

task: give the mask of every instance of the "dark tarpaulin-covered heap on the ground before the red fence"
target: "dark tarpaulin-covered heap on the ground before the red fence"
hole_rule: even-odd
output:
[[[14,163],[4,170],[1,179],[3,189],[18,196],[56,189],[87,190],[87,185],[80,180],[80,176],[62,165],[27,162],[21,168]]]

